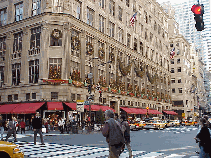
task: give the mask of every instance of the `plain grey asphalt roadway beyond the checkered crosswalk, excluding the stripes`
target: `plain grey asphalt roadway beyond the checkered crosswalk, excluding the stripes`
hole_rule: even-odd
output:
[[[195,151],[199,151],[198,144],[193,139],[196,136],[197,128],[189,127],[170,127],[164,130],[140,130],[131,131],[132,150],[146,152],[162,152],[164,155],[172,153],[190,156],[198,156]],[[27,137],[18,138],[18,141],[33,142],[33,132],[28,131]],[[31,135],[31,136],[30,136]],[[79,131],[79,134],[59,134],[52,131],[44,134],[45,143],[108,147],[105,137],[101,132],[91,134]],[[38,136],[37,142],[40,142]],[[185,157],[183,156],[183,157]],[[161,156],[165,157],[165,156]]]

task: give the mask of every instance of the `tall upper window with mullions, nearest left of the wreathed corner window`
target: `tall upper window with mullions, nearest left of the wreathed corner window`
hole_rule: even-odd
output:
[[[41,27],[31,29],[30,49],[40,47]]]

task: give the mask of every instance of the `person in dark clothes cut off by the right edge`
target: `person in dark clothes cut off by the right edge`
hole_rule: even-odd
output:
[[[199,140],[200,158],[209,158],[211,140],[210,140],[210,132],[209,129],[207,128],[206,123],[207,123],[206,119],[204,118],[200,119],[199,124],[201,126],[201,130],[194,138]]]

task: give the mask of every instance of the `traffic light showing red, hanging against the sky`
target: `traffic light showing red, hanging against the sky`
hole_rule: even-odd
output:
[[[196,21],[195,27],[197,31],[204,30],[204,21],[203,21],[204,5],[203,4],[193,5],[191,11],[194,13],[194,19]]]

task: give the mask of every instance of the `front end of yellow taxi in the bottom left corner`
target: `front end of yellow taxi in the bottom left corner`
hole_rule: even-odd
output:
[[[0,157],[2,158],[24,158],[19,146],[5,141],[0,141]]]

